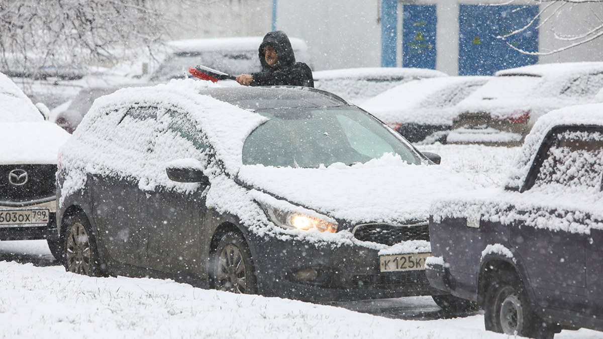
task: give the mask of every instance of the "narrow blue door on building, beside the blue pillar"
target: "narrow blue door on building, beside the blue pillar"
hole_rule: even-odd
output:
[[[435,69],[435,5],[402,8],[402,67]]]

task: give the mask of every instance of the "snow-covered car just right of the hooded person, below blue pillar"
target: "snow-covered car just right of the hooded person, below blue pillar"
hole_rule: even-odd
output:
[[[425,68],[344,68],[314,72],[314,87],[361,105],[388,89],[422,78],[447,77],[444,72]]]

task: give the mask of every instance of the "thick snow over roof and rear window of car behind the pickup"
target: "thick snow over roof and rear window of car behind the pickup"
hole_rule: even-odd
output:
[[[493,119],[531,121],[561,107],[595,103],[603,87],[603,62],[553,63],[507,69],[496,73],[456,106],[456,114],[488,113]]]

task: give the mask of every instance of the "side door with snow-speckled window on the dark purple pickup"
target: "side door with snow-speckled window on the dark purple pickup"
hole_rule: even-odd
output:
[[[524,195],[541,207],[525,211],[511,232],[538,302],[584,312],[589,211],[575,201],[601,188],[601,133],[587,127],[557,128],[543,142]]]

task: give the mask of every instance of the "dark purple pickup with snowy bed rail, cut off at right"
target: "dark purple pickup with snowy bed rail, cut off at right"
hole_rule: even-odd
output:
[[[432,286],[484,308],[485,328],[603,331],[603,104],[542,116],[504,191],[432,206]]]

